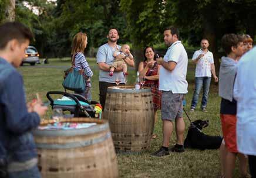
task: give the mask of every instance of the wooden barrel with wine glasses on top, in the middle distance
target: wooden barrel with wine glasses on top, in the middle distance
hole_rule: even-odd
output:
[[[136,153],[150,148],[154,129],[150,88],[107,88],[103,118],[109,121],[116,152]]]

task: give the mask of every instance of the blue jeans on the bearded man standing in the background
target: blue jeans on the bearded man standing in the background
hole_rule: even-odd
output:
[[[191,108],[194,109],[197,107],[198,96],[200,94],[202,87],[203,87],[203,97],[201,102],[201,108],[202,109],[206,108],[210,83],[211,83],[211,77],[196,77],[195,90],[194,90],[194,95],[191,103]]]

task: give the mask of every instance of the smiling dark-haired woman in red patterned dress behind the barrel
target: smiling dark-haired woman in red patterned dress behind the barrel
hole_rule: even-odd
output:
[[[161,92],[159,91],[159,69],[160,65],[157,64],[155,59],[156,52],[151,46],[144,49],[144,61],[139,64],[140,77],[144,77],[146,82],[143,86],[151,88],[151,94],[154,104],[154,123],[157,122],[157,109],[161,109]],[[153,134],[153,138],[156,135]]]

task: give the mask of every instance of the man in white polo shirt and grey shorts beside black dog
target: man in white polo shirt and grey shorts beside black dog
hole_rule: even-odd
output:
[[[164,30],[164,43],[169,46],[164,58],[158,58],[160,64],[159,90],[163,91],[161,98],[161,119],[163,120],[163,145],[151,156],[167,156],[171,152],[184,152],[183,135],[185,123],[183,120],[183,98],[187,93],[187,52],[178,40],[177,28]],[[169,140],[173,132],[173,121],[176,122],[177,143],[169,150]]]

